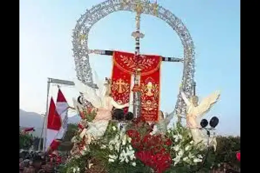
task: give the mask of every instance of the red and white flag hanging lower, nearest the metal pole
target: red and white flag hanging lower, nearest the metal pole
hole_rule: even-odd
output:
[[[55,141],[58,132],[62,127],[62,119],[56,110],[55,103],[53,98],[51,97],[49,114],[47,118],[47,135],[46,135],[46,148],[47,150],[49,146]]]

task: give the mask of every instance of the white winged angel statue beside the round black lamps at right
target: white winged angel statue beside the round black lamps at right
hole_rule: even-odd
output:
[[[195,142],[202,141],[203,143],[207,143],[207,136],[202,130],[200,130],[198,119],[201,118],[206,112],[208,112],[210,108],[218,101],[220,92],[215,91],[208,97],[204,98],[200,104],[198,104],[198,101],[195,97],[192,97],[189,100],[183,92],[181,92],[181,96],[187,105],[186,123],[187,127],[189,127],[192,132],[193,140]],[[211,137],[209,140],[210,144],[216,148],[216,138]]]

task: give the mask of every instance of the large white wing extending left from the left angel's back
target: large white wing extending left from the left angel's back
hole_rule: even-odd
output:
[[[91,88],[90,86],[87,86],[83,84],[79,80],[74,80],[76,89],[83,94],[84,98],[89,101],[95,108],[102,107],[102,100],[97,95],[96,89]]]

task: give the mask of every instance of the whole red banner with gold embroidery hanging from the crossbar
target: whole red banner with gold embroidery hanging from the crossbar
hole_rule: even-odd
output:
[[[146,121],[157,121],[160,99],[160,65],[161,57],[156,55],[140,55],[114,52],[112,70],[112,97],[119,104],[129,102],[131,74],[139,64],[141,69],[141,116]]]

